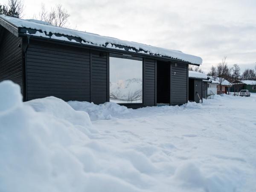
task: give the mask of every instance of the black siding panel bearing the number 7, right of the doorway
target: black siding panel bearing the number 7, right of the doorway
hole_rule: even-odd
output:
[[[180,105],[187,102],[188,99],[188,65],[171,63],[171,95],[170,104]]]

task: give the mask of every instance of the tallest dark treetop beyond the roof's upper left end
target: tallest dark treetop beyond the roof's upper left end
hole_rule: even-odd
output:
[[[6,6],[7,16],[22,18],[24,3],[22,0],[8,0]]]

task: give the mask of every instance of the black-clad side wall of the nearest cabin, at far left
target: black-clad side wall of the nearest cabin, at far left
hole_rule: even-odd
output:
[[[19,84],[23,93],[22,39],[0,26],[0,81],[3,80]]]

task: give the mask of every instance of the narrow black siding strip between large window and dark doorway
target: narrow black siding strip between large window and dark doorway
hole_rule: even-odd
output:
[[[154,59],[144,59],[143,69],[143,105],[154,106],[156,105],[155,98],[155,72],[156,62]]]

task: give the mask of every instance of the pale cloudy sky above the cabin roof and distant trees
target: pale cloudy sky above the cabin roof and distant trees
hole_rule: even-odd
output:
[[[71,28],[198,55],[205,72],[224,56],[256,64],[256,0],[24,0],[24,18],[42,2],[61,3]]]

